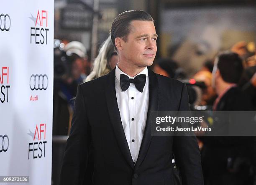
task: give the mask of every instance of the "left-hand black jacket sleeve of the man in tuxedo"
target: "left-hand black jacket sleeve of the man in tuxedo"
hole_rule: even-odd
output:
[[[80,185],[87,169],[87,158],[90,148],[90,125],[84,104],[81,85],[77,87],[74,102],[74,114],[69,138],[67,139],[61,167],[60,185]]]

